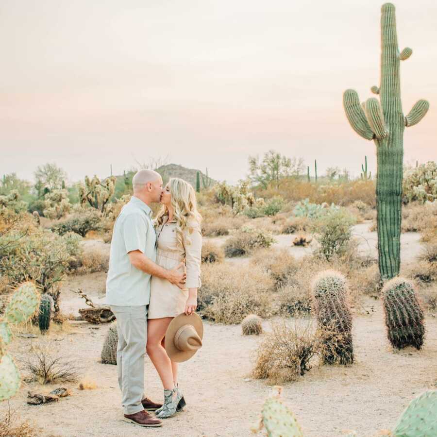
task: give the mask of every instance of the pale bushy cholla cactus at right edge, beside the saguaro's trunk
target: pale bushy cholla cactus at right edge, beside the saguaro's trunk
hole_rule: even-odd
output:
[[[429,161],[416,168],[408,168],[403,174],[402,193],[404,202],[437,200],[437,164]]]

